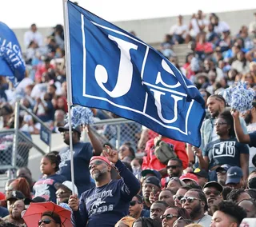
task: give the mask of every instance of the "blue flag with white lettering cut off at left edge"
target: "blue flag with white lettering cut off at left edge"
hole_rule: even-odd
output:
[[[10,79],[14,85],[25,77],[26,64],[13,30],[0,22],[0,76]]]

